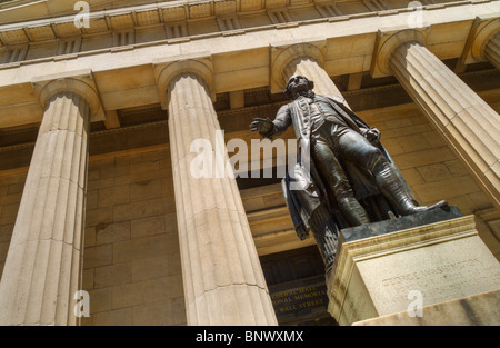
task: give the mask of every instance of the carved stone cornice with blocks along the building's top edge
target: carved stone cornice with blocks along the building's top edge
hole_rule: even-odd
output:
[[[469,4],[478,2],[490,2],[491,0],[463,0],[450,1],[448,3],[424,4],[422,9],[432,10],[447,6]],[[249,16],[262,13],[270,16],[271,22],[276,28],[297,26],[299,23],[313,23],[318,21],[349,20],[358,17],[388,16],[398,12],[413,11],[413,8],[391,8],[384,4],[384,8],[370,6],[373,0],[351,0],[348,2],[360,2],[367,10],[360,13],[342,14],[338,10],[329,10],[333,1],[327,0],[197,0],[197,1],[164,1],[134,7],[124,7],[120,9],[90,11],[89,27],[74,26],[76,16],[73,14],[51,17],[38,20],[21,21],[0,26],[0,47],[33,43],[48,40],[58,40],[71,37],[84,37],[99,33],[112,33],[124,30],[137,30],[152,26],[168,26],[176,22],[192,22],[216,18]],[[380,1],[379,1],[380,2]],[[288,11],[304,7],[314,7],[318,10],[319,18],[311,20],[287,20],[286,22],[274,22],[273,11]],[[0,8],[0,12],[1,12]],[[3,11],[8,11],[3,10]],[[0,13],[1,14],[1,13]],[[0,19],[1,20],[1,19]],[[219,23],[219,27],[223,24]],[[253,28],[238,28],[240,31],[252,30]],[[254,29],[253,29],[254,30]],[[220,28],[220,32],[227,32]],[[229,30],[230,31],[230,30]]]

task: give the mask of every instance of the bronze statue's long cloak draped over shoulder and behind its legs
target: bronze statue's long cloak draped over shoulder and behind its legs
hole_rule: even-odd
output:
[[[359,118],[353,111],[342,103],[341,99],[336,97],[322,98],[324,98],[324,100],[331,105],[338,115],[340,115],[356,131],[360,132],[361,128],[369,128],[369,126],[364,123],[361,118]],[[298,111],[292,108],[291,112]],[[389,165],[394,170],[396,175],[403,182],[404,189],[408,191],[409,196],[413,198],[399,169],[394,166],[384,147],[379,141],[373,145],[380,149]],[[301,151],[299,150],[299,152]],[[380,193],[371,172],[357,167],[350,161],[342,159],[339,159],[339,161],[344,169],[349,182],[351,183],[356,198],[364,207],[371,221],[389,219],[389,211],[391,211],[394,216],[399,215],[397,208],[391,207],[386,198]],[[302,158],[299,156],[294,168],[289,169],[286,177],[281,181],[281,187],[296,232],[301,240],[309,237],[309,219],[319,205],[328,206],[332,213],[332,219],[339,229],[350,227],[340,213],[333,193],[324,179],[318,172],[312,160],[302,161]]]

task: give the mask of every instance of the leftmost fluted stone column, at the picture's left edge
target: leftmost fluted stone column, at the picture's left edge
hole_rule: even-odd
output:
[[[43,119],[0,284],[0,325],[74,325],[91,105],[57,80],[41,91]],[[66,87],[68,89],[64,91]]]

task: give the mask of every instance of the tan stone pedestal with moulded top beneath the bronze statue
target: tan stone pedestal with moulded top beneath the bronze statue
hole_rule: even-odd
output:
[[[418,317],[426,306],[499,290],[500,265],[473,216],[451,207],[342,230],[327,287],[328,311],[339,325]]]

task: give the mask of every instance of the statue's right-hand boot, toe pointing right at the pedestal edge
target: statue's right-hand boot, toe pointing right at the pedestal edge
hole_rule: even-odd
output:
[[[387,162],[379,162],[373,169],[373,176],[382,195],[402,216],[448,206],[446,200],[441,200],[432,206],[418,206]]]

